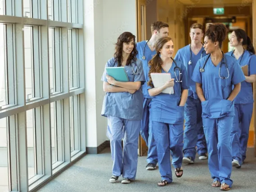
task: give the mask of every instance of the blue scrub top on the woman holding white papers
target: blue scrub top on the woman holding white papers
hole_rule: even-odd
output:
[[[174,78],[174,94],[160,93],[156,96],[152,97],[151,101],[151,120],[162,123],[169,124],[179,124],[184,122],[184,106],[178,106],[181,99],[182,90],[188,89],[188,80],[187,80],[187,72],[184,65],[175,60],[177,66],[181,69],[180,80],[182,82],[175,82],[177,79],[174,74],[175,64],[173,62],[171,68],[168,73],[171,73],[171,77]],[[149,68],[147,69],[147,74],[149,73]],[[162,69],[161,73],[166,73],[164,69]],[[177,78],[178,69],[176,69]],[[149,81],[148,75],[146,76],[146,81]],[[147,86],[148,89],[154,88],[151,86]]]

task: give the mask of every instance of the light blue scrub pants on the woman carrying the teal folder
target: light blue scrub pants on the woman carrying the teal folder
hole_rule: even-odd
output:
[[[110,139],[113,160],[112,175],[135,179],[138,162],[140,120],[108,116],[107,136]],[[123,138],[123,149],[121,140]]]

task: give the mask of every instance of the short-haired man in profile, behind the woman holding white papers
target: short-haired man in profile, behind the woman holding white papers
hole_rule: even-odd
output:
[[[148,41],[141,41],[137,43],[137,59],[142,60],[143,70],[145,77],[147,76],[146,71],[148,68],[148,62],[156,54],[155,43],[160,37],[167,37],[169,34],[169,25],[162,21],[156,21],[151,24],[152,36]],[[148,146],[147,153],[147,170],[156,169],[157,151],[155,146],[155,139],[153,136],[153,131],[151,129],[151,119],[150,119],[150,109],[151,109],[151,96],[147,91],[147,82],[142,86],[142,91],[144,95],[143,100],[143,115],[141,123],[141,136]]]

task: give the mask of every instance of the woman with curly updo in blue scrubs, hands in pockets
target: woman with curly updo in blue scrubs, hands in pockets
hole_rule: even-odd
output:
[[[199,59],[192,74],[197,96],[201,100],[203,128],[208,148],[208,165],[212,187],[229,190],[233,184],[230,134],[234,113],[234,98],[245,80],[236,59],[224,55],[222,42],[227,38],[224,24],[209,24],[205,33],[207,56]],[[209,55],[208,55],[209,54]],[[234,88],[232,89],[232,86]]]

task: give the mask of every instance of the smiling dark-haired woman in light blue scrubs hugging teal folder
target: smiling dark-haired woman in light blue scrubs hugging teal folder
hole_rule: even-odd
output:
[[[132,33],[122,33],[115,50],[114,57],[105,67],[124,67],[129,82],[114,80],[105,69],[101,80],[104,81],[106,95],[101,115],[108,119],[107,136],[114,162],[110,182],[115,183],[122,175],[121,183],[130,183],[137,172],[138,137],[143,112],[142,84],[145,76],[142,61],[136,58],[135,36]]]

